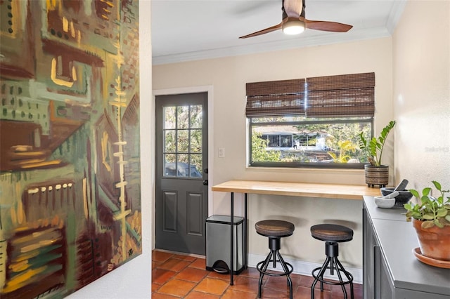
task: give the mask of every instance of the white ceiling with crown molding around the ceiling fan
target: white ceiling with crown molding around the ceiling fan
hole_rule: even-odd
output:
[[[349,32],[281,30],[282,0],[152,0],[153,65],[390,36],[406,0],[305,0],[306,18],[353,25]],[[142,16],[141,16],[142,18]]]

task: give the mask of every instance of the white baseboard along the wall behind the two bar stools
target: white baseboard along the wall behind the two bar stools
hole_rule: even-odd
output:
[[[265,259],[266,259],[265,255],[249,254],[248,255],[248,267],[255,268],[257,263],[259,263]],[[316,267],[322,266],[322,264],[304,262],[303,260],[293,260],[293,259],[285,258],[285,257],[283,257],[283,259],[285,260],[285,262],[293,265],[293,267],[294,267],[293,273],[300,274],[300,275],[311,276],[312,270],[314,270]],[[345,270],[352,273],[353,282],[355,284],[363,283],[363,270],[361,268],[346,267],[346,266],[344,266],[344,267],[345,267]],[[283,269],[281,269],[280,265],[277,265],[276,270],[283,271]],[[338,280],[338,277],[336,275],[331,276],[329,273],[325,274],[324,277],[326,277],[327,279]]]

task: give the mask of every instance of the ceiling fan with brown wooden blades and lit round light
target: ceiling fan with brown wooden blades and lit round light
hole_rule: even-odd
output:
[[[281,10],[283,11],[283,20],[281,23],[266,29],[253,32],[248,35],[240,36],[240,39],[258,36],[283,29],[285,34],[300,34],[304,29],[315,29],[329,32],[347,32],[352,29],[352,25],[342,24],[338,22],[307,20],[304,17],[304,0],[282,0]]]

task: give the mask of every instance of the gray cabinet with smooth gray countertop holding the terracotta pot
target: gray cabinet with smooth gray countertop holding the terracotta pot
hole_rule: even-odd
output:
[[[403,208],[383,209],[364,197],[363,287],[366,299],[449,299],[450,269],[413,255],[416,232]]]

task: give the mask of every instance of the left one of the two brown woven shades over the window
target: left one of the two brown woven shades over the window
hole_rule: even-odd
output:
[[[304,114],[304,79],[246,84],[247,117],[283,117]]]

